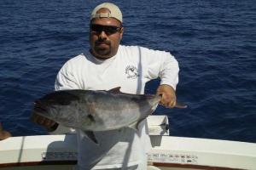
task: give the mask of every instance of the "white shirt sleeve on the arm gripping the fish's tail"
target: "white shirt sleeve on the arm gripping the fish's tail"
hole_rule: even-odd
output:
[[[148,77],[160,77],[160,84],[167,84],[176,89],[179,67],[174,56],[165,51],[143,48],[148,63]]]

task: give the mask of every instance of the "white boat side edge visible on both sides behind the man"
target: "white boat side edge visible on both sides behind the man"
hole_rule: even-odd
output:
[[[215,139],[150,136],[148,165],[162,170],[255,169],[256,144]],[[75,134],[12,137],[0,141],[2,169],[73,169]]]

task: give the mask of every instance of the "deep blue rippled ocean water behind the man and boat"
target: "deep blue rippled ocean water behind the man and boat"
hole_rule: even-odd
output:
[[[67,59],[89,48],[90,11],[98,3],[0,1],[0,122],[13,135],[46,133],[30,122],[33,101],[54,89]],[[256,142],[253,0],[115,3],[124,14],[123,44],[170,51],[179,62],[177,99],[189,108],[155,113],[169,117],[171,135]]]

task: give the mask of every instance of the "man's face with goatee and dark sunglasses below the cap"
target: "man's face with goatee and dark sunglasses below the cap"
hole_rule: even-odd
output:
[[[113,57],[119,48],[123,28],[114,18],[98,18],[90,21],[90,52],[98,59]]]

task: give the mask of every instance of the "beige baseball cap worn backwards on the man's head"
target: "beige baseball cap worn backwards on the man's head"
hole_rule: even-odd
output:
[[[97,11],[101,8],[108,8],[110,13],[97,13]],[[96,6],[96,8],[93,9],[90,15],[90,20],[95,18],[109,18],[109,17],[115,18],[119,20],[121,23],[123,22],[123,15],[118,6],[116,6],[113,3],[101,3],[98,6]]]

